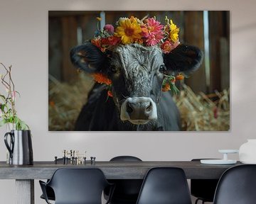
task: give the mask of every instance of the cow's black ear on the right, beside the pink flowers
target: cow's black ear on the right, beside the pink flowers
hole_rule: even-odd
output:
[[[196,71],[202,60],[203,52],[190,45],[178,45],[169,54],[164,55],[167,72],[182,72],[185,75]]]

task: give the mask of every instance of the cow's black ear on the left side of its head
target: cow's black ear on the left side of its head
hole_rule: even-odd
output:
[[[107,55],[91,42],[73,47],[70,59],[75,67],[85,72],[97,72],[105,66]]]

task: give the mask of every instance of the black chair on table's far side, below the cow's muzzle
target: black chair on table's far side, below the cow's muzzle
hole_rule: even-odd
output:
[[[110,162],[142,162],[142,159],[134,156],[118,156],[110,159]],[[142,186],[142,179],[112,179],[114,183],[114,193],[111,204],[135,204]],[[105,198],[109,196],[109,189],[105,190]]]

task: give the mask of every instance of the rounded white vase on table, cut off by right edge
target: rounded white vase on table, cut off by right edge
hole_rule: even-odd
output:
[[[256,139],[247,140],[240,146],[239,160],[243,164],[256,164]]]

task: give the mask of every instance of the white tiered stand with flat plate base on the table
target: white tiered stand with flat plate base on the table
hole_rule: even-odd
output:
[[[238,149],[219,149],[218,152],[223,153],[223,159],[201,159],[201,164],[235,164],[237,161],[228,159],[228,154],[238,153]]]

